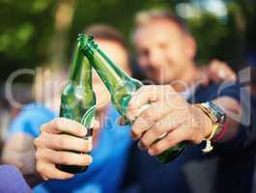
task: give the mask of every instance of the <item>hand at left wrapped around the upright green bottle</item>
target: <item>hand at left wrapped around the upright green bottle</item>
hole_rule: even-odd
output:
[[[72,174],[58,170],[55,164],[87,166],[92,163],[92,157],[86,154],[92,150],[92,144],[82,138],[86,132],[82,124],[64,118],[42,125],[41,134],[34,144],[36,168],[43,179],[73,177]]]

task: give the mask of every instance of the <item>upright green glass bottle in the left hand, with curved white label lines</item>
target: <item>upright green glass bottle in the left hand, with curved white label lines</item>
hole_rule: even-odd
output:
[[[83,124],[88,129],[85,139],[92,140],[96,114],[96,96],[92,87],[92,66],[82,51],[86,42],[79,37],[77,41],[69,82],[61,96],[60,117]],[[56,167],[71,174],[84,172],[88,168],[88,166],[70,165],[56,165]]]

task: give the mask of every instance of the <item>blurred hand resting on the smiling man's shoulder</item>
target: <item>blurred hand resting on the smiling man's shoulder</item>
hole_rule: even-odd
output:
[[[207,68],[202,70],[203,76],[201,77],[202,85],[207,86],[210,81],[219,83],[223,81],[236,81],[236,73],[228,66],[227,63],[218,60],[213,60]]]

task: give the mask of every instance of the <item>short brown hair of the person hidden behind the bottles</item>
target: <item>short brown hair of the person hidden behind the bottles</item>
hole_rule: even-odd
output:
[[[116,41],[127,49],[124,37],[112,26],[106,24],[93,24],[85,29],[85,33],[95,39]]]

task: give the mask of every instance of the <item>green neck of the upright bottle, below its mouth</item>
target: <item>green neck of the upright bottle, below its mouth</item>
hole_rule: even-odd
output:
[[[77,46],[71,64],[70,81],[76,86],[92,89],[92,66]]]

